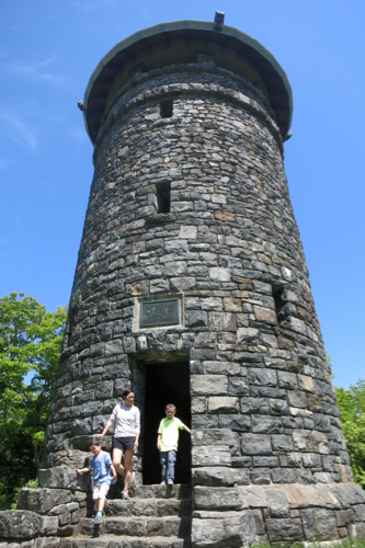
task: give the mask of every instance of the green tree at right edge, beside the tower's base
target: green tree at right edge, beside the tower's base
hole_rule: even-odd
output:
[[[365,380],[335,389],[355,482],[365,489]]]

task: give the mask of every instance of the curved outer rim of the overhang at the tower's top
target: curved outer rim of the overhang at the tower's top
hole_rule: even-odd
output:
[[[292,124],[293,93],[288,78],[284,69],[275,59],[275,57],[264,46],[262,46],[262,44],[260,44],[251,36],[239,31],[238,28],[223,25],[221,27],[219,27],[219,31],[217,31],[217,26],[215,23],[206,21],[187,20],[187,21],[176,21],[172,23],[162,23],[159,25],[150,26],[142,31],[138,31],[137,33],[133,34],[132,36],[128,36],[127,38],[116,44],[101,59],[98,67],[91,75],[83,99],[83,104],[84,104],[83,119],[87,133],[92,144],[93,145],[95,144],[99,128],[101,125],[101,118],[102,118],[101,111],[103,113],[106,107],[107,90],[113,84],[113,81],[110,78],[109,79],[104,78],[103,70],[111,69],[112,67],[113,70],[118,70],[115,68],[116,58],[118,55],[121,55],[121,53],[126,52],[128,48],[138,46],[140,52],[140,47],[142,49],[148,47],[148,41],[150,38],[156,39],[159,35],[167,36],[167,41],[169,42],[173,39],[174,34],[181,32],[185,33],[187,37],[189,33],[201,32],[202,34],[204,33],[204,39],[207,39],[208,36],[209,41],[212,42],[219,43],[224,45],[224,47],[230,47],[237,49],[239,55],[241,56],[244,56],[246,54],[242,54],[242,50],[239,49],[239,46],[241,46],[241,48],[242,46],[244,48],[249,47],[250,52],[251,53],[253,52],[256,55],[258,60],[255,62],[258,62],[258,65],[259,64],[261,65],[261,68],[258,68],[260,76],[262,77],[263,81],[265,81],[266,84],[269,83],[267,85],[269,95],[272,103],[273,112],[275,113],[275,115],[277,115],[278,113],[281,114],[281,116],[277,116],[277,124],[280,126],[281,134],[284,139]],[[223,44],[223,37],[226,37],[226,42],[224,44]],[[272,83],[273,80],[274,80],[274,85]],[[99,109],[99,112],[95,115],[95,110],[92,107],[90,103],[92,103],[91,99],[93,93],[98,90],[98,87],[103,89],[102,94],[105,96],[105,104],[104,109],[101,109],[101,111]],[[273,87],[272,90],[270,87]],[[99,103],[103,102],[103,99],[100,100],[99,90],[98,90],[98,102]]]

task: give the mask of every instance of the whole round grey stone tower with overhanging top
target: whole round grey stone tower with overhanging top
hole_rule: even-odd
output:
[[[162,24],[100,61],[83,115],[95,173],[46,458],[0,536],[26,518],[35,548],[365,537],[283,168],[283,69],[235,28]],[[73,468],[126,387],[135,499],[110,501],[90,541]],[[155,446],[170,401],[193,432],[168,493]]]

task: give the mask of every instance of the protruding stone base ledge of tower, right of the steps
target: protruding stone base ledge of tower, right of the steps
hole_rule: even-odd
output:
[[[365,492],[354,484],[196,487],[194,499],[194,548],[248,546],[256,535],[308,545],[365,539]],[[240,537],[243,526],[249,533]]]

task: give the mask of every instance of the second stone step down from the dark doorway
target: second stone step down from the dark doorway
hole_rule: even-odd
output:
[[[190,516],[192,501],[189,499],[132,499],[130,501],[106,501],[107,516]]]

